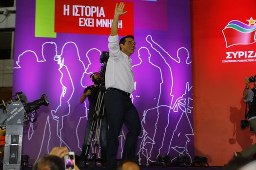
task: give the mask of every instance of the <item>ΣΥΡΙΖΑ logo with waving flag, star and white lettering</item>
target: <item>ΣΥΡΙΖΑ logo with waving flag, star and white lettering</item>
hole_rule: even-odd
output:
[[[232,20],[222,30],[227,49],[231,46],[256,42],[256,19],[251,17],[246,21],[248,21],[248,24]],[[226,54],[226,60],[222,60],[222,63],[256,61],[256,51],[227,51]]]

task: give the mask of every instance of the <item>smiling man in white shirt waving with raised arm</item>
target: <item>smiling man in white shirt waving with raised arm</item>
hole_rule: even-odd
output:
[[[104,103],[108,113],[109,132],[107,136],[107,169],[117,169],[118,135],[123,123],[129,130],[126,135],[123,160],[131,160],[137,148],[140,133],[138,111],[133,105],[130,93],[134,91],[134,75],[130,56],[135,51],[135,41],[132,35],[127,35],[118,44],[118,20],[123,12],[124,3],[116,4],[109,41],[109,59],[105,74],[107,92]]]

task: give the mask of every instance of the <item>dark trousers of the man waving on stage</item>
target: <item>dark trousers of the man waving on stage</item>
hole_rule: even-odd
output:
[[[109,126],[107,136],[107,169],[117,169],[118,136],[123,123],[128,129],[124,150],[123,160],[131,160],[137,148],[138,136],[140,133],[140,120],[138,111],[133,105],[129,96],[116,90],[107,90],[104,97],[104,104],[108,113],[107,122]]]

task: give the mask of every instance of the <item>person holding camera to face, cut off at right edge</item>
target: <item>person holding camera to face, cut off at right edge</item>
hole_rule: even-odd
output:
[[[249,103],[248,120],[251,128],[256,134],[256,75],[254,77],[245,78],[245,88],[243,90],[243,98],[245,102]],[[254,83],[254,87],[250,89],[250,83]],[[256,143],[245,148],[241,152],[235,152],[236,157],[249,157],[256,153]]]

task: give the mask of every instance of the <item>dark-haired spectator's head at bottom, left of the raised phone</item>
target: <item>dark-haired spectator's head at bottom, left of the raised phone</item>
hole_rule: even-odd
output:
[[[65,170],[65,165],[59,156],[44,155],[34,164],[33,170]]]

